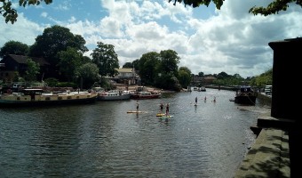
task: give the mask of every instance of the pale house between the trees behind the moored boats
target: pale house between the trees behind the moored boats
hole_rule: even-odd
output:
[[[139,76],[136,74],[135,69],[121,68],[115,70],[118,72],[115,78],[118,78],[120,83],[125,85],[136,85],[139,83]]]

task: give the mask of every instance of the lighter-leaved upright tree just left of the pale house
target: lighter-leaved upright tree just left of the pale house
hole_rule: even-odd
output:
[[[112,44],[103,44],[98,42],[98,47],[92,53],[92,62],[99,67],[100,77],[114,77],[117,74],[116,68],[119,68],[115,46]]]

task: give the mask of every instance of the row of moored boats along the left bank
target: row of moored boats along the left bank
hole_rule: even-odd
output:
[[[26,88],[16,93],[0,94],[0,107],[17,106],[42,106],[58,104],[79,104],[94,101],[123,101],[160,98],[161,93],[151,93],[148,91],[75,91],[69,90],[58,93],[57,91],[46,92],[41,88]]]

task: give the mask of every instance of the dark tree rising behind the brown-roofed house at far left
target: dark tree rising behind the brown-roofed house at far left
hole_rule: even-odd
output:
[[[29,46],[17,41],[9,41],[4,44],[0,50],[0,57],[3,58],[8,54],[27,55]]]

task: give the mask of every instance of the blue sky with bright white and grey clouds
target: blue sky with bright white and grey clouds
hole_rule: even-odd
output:
[[[193,8],[168,0],[53,0],[52,4],[13,7],[19,13],[14,24],[0,17],[0,47],[11,40],[32,45],[44,28],[59,25],[81,35],[91,52],[98,42],[113,44],[120,68],[144,53],[173,50],[179,67],[195,75],[239,74],[257,77],[273,68],[270,42],[302,36],[302,8],[290,4],[285,12],[263,16],[250,7],[271,0],[227,0]]]

